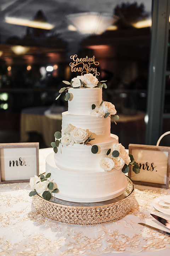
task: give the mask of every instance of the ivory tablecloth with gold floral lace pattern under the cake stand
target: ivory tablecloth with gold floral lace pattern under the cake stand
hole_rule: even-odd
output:
[[[45,156],[51,151],[40,150],[41,173],[45,170]],[[170,236],[137,224],[144,222],[168,231],[150,213],[170,219],[152,205],[154,198],[169,195],[170,190],[136,185],[135,206],[128,215],[113,223],[90,226],[58,223],[37,214],[29,191],[28,183],[0,185],[1,256],[110,256],[122,252],[124,256],[133,252],[170,255]]]

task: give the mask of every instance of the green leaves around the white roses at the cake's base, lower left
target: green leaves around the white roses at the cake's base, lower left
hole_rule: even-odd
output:
[[[47,185],[47,188],[48,190],[44,191],[42,193],[42,197],[49,201],[52,197],[52,193],[58,193],[59,190],[58,188],[54,188],[54,182],[50,179],[51,178],[51,173],[47,173],[46,176],[44,176],[43,174],[40,174],[40,181],[36,182],[39,183],[39,182],[43,182],[43,181],[47,181],[48,182],[48,185]],[[31,191],[29,192],[29,196],[32,197],[32,196],[35,196],[37,193],[37,191],[34,189],[34,191]]]

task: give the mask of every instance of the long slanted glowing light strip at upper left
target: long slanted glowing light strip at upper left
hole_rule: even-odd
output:
[[[20,26],[26,26],[26,27],[34,27],[34,28],[41,28],[46,30],[51,30],[55,26],[47,23],[47,22],[41,22],[41,21],[30,21],[22,18],[15,18],[15,17],[5,17],[5,22]]]

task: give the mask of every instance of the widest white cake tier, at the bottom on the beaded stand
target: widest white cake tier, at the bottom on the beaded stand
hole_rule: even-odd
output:
[[[106,201],[123,194],[128,185],[125,174],[121,170],[79,172],[79,170],[58,169],[53,153],[46,158],[46,173],[49,172],[59,189],[55,197],[70,202]]]

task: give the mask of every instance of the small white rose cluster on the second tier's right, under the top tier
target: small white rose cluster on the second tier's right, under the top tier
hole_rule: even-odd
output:
[[[103,101],[102,105],[99,107],[95,107],[90,114],[92,116],[97,116],[97,117],[103,117],[107,113],[114,115],[117,113],[115,110],[115,106],[111,102]]]

